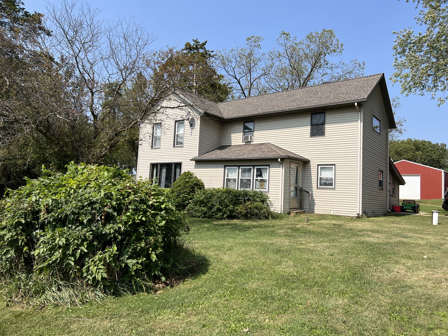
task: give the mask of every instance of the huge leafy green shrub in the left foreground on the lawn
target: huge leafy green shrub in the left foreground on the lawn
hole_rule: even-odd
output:
[[[17,287],[11,295],[55,284],[112,293],[163,280],[167,251],[188,229],[164,189],[116,167],[44,173],[0,202],[0,277]]]

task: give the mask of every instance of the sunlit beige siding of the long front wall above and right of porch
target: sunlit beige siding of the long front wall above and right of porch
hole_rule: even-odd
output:
[[[310,113],[252,120],[255,121],[253,143],[270,142],[310,160],[301,163],[300,171],[301,186],[312,192],[311,212],[350,216],[358,213],[359,114],[354,106],[326,111],[323,137],[310,137]],[[222,145],[242,143],[242,121],[223,123],[222,127]],[[336,164],[335,189],[317,188],[318,164]],[[288,189],[289,179],[284,196]],[[307,197],[303,207],[308,209]]]

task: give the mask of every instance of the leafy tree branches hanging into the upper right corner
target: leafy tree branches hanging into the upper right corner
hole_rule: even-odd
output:
[[[448,1],[413,2],[420,8],[415,20],[423,32],[417,33],[411,27],[393,32],[396,34],[395,72],[391,80],[400,83],[401,93],[405,95],[430,93],[435,99],[448,88]],[[437,101],[438,106],[445,103],[444,94]]]

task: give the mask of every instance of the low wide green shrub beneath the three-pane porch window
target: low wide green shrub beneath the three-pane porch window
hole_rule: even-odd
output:
[[[270,210],[267,194],[232,188],[200,190],[186,211],[192,217],[216,219],[269,219],[278,215]]]

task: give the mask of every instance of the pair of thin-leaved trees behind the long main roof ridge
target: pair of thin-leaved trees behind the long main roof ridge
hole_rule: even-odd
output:
[[[218,53],[218,67],[233,86],[234,98],[291,90],[299,87],[360,77],[364,63],[336,60],[344,46],[333,30],[311,32],[298,40],[285,31],[278,49],[262,52],[259,36],[246,39],[246,47]]]

